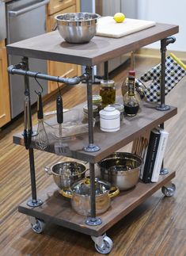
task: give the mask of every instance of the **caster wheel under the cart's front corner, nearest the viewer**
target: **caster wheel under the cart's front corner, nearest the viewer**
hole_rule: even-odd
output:
[[[113,242],[106,234],[102,236],[92,236],[93,242],[95,242],[95,248],[100,254],[109,254],[112,250]]]

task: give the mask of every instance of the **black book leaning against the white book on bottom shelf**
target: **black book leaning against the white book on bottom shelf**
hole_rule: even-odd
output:
[[[143,170],[142,181],[149,183],[151,181],[152,173],[154,170],[154,162],[156,159],[158,144],[160,139],[160,132],[150,132],[150,141],[146,153],[146,162]]]

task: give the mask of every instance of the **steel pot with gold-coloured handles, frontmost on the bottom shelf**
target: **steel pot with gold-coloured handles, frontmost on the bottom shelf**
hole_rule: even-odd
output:
[[[106,212],[111,204],[111,197],[116,197],[120,190],[113,188],[107,181],[95,178],[96,185],[96,212],[101,214]],[[83,216],[90,216],[90,181],[85,178],[70,186],[70,190],[62,189],[64,197],[71,198],[71,205],[75,212]]]

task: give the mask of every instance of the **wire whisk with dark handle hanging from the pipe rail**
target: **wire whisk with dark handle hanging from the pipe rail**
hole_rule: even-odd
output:
[[[44,128],[44,112],[43,112],[43,103],[41,93],[38,92],[37,94],[37,120],[38,120],[38,127],[37,127],[37,136],[36,136],[36,147],[40,150],[45,150],[48,146],[48,139],[47,139],[47,132]]]

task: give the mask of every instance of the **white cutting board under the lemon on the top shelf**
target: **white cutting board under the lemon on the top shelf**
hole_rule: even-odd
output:
[[[125,18],[122,23],[116,23],[111,16],[101,17],[97,22],[96,35],[120,38],[121,36],[127,36],[142,29],[150,28],[154,25],[156,25],[155,21],[143,21]]]

